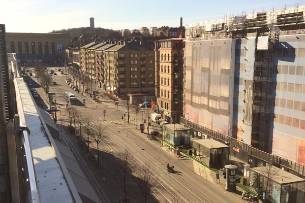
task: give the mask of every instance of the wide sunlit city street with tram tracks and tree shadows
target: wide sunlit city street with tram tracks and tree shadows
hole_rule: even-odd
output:
[[[54,69],[53,69],[54,70]],[[127,148],[136,158],[139,165],[143,166],[145,162],[149,163],[153,169],[151,174],[157,180],[154,188],[154,194],[149,196],[148,202],[246,202],[242,200],[239,194],[226,191],[223,182],[219,184],[211,183],[204,179],[203,175],[198,175],[194,161],[187,156],[180,157],[168,150],[165,146],[161,146],[154,140],[147,138],[147,130],[145,123],[144,133],[136,129],[136,114],[134,110],[130,110],[130,123],[127,122],[127,110],[125,108],[125,101],[119,100],[119,106],[116,107],[113,100],[104,98],[100,103],[93,101],[89,95],[81,92],[79,94],[72,90],[65,84],[66,76],[60,75],[60,72],[55,71],[56,76],[52,76],[53,81],[57,85],[51,86],[49,92],[54,92],[53,100],[56,99],[57,107],[60,106],[60,111],[57,113],[57,125],[61,129],[63,136],[66,136],[68,142],[78,149],[78,138],[75,138],[68,132],[69,118],[66,111],[65,92],[70,91],[76,95],[78,100],[85,99],[85,106],[75,106],[83,115],[89,115],[95,124],[101,123],[106,126],[106,133],[103,142],[100,144],[100,157],[102,158],[102,167],[100,169],[93,166],[93,163],[86,159],[86,152],[80,148],[80,156],[86,159],[86,165],[83,166],[86,170],[92,170],[95,181],[100,184],[99,187],[105,192],[110,202],[118,202],[123,199],[123,178],[120,169],[116,166],[116,157],[120,152]],[[38,81],[37,78],[31,78]],[[42,88],[37,83],[33,83],[40,94],[40,98],[35,98],[39,107],[43,105],[45,110],[49,107],[48,95],[43,92]],[[82,88],[81,88],[82,90]],[[105,117],[103,111],[106,110]],[[138,114],[138,125],[142,123],[143,119],[147,118],[147,109],[144,113]],[[125,121],[122,120],[122,115],[126,114]],[[143,116],[143,117],[142,117]],[[150,126],[150,130],[161,130],[156,123],[155,126]],[[85,134],[83,139],[86,140]],[[97,149],[96,143],[90,139],[90,147]],[[167,163],[175,166],[175,173],[167,172]],[[130,175],[133,176],[133,175]],[[127,196],[130,202],[143,202],[143,197],[139,194],[136,188],[135,178],[128,178],[127,180]],[[99,190],[97,189],[97,192]]]

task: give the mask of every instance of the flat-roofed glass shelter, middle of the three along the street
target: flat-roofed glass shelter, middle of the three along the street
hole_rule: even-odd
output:
[[[229,163],[230,147],[213,139],[193,140],[194,155],[209,164],[210,167],[222,168]],[[195,153],[196,151],[196,153]]]

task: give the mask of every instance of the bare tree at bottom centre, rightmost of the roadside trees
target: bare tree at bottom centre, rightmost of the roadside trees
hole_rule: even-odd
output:
[[[136,183],[140,194],[145,199],[145,203],[147,202],[148,195],[154,192],[154,187],[157,183],[157,179],[152,176],[153,172],[154,168],[146,161],[143,167],[139,167],[138,170],[135,171],[137,176]]]

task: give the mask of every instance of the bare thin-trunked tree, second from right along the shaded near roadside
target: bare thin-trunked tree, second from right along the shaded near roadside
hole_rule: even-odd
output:
[[[136,160],[133,154],[125,148],[125,151],[118,154],[118,167],[123,172],[123,190],[124,190],[124,202],[126,201],[126,178],[127,173],[132,172],[135,167]]]

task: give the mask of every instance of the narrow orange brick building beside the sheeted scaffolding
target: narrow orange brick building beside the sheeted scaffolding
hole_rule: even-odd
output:
[[[183,115],[183,39],[172,38],[155,42],[156,95],[160,113],[169,123]]]

